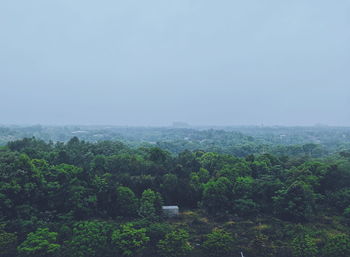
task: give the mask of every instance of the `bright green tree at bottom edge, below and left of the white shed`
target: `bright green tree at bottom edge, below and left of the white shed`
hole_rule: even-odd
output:
[[[113,245],[121,256],[138,256],[149,240],[146,229],[136,229],[131,223],[122,225],[112,234]]]

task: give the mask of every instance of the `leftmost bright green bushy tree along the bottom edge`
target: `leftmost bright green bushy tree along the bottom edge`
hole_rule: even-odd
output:
[[[56,232],[50,232],[48,228],[38,228],[35,232],[27,235],[17,250],[21,256],[49,257],[56,256],[60,248]]]

